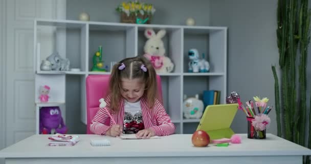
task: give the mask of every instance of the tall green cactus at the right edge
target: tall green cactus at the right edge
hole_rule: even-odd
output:
[[[310,39],[310,15],[308,0],[278,0],[277,45],[280,81],[276,67],[272,66],[275,78],[277,134],[308,148],[311,148],[311,130],[306,130],[305,125],[306,119],[309,118],[309,127],[311,127],[311,112],[307,115],[306,107],[306,62]],[[299,62],[296,61],[296,57],[297,59],[299,57]],[[308,142],[305,144],[307,133]],[[310,159],[304,158],[304,163],[309,164]]]

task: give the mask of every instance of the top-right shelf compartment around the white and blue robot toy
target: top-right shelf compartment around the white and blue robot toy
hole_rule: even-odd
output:
[[[197,49],[199,58],[205,54],[210,73],[226,73],[227,69],[227,28],[192,27],[184,28],[184,72],[188,72],[188,51]]]

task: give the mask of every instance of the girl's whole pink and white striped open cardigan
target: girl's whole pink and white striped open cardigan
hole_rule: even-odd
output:
[[[170,135],[175,132],[175,126],[172,123],[169,115],[166,113],[161,102],[156,99],[152,109],[148,108],[147,100],[143,96],[141,97],[141,108],[143,114],[143,122],[145,129],[151,128],[157,136]],[[105,108],[110,106],[110,96],[105,98],[107,103]],[[109,124],[106,125],[106,121],[109,119],[107,110],[99,109],[94,118],[91,121],[90,130],[94,134],[104,135],[110,127],[113,125],[113,121],[110,119]],[[110,111],[110,110],[108,110]],[[124,98],[121,98],[119,111],[116,114],[110,113],[116,124],[123,126],[124,119]]]

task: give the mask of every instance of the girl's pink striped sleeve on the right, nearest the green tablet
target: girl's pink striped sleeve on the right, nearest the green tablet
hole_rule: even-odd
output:
[[[153,114],[154,119],[157,121],[157,125],[151,127],[157,136],[171,135],[175,133],[175,125],[172,123],[171,118],[166,113],[163,105],[157,99],[154,104]]]

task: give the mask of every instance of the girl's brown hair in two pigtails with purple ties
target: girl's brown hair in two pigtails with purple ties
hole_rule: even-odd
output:
[[[145,68],[142,68],[142,65],[144,65],[147,70]],[[147,98],[149,108],[152,108],[154,105],[154,100],[156,99],[158,93],[156,76],[156,70],[154,70],[150,61],[143,56],[125,58],[119,63],[115,64],[112,68],[112,73],[110,75],[109,81],[108,94],[110,95],[110,110],[119,110],[122,78],[141,78],[145,83],[145,91],[143,96]]]

